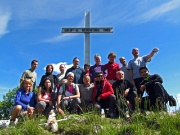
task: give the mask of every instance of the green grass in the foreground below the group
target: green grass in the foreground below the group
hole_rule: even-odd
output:
[[[58,116],[58,119],[61,118]],[[40,123],[45,117],[21,120],[17,126],[0,129],[0,135],[51,135]],[[60,135],[179,135],[180,113],[133,114],[130,120],[101,118],[96,114],[72,115],[58,123]]]

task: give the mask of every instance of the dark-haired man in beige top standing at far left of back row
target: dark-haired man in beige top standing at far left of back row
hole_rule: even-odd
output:
[[[37,67],[38,67],[38,61],[32,60],[31,61],[31,68],[28,70],[25,70],[21,76],[21,79],[20,79],[20,83],[26,78],[31,79],[31,81],[33,83],[33,87],[32,87],[33,91],[36,87],[37,73],[35,72],[35,70]]]

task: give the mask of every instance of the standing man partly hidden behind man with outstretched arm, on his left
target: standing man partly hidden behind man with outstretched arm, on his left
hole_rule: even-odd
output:
[[[124,57],[121,57],[119,58],[119,61],[122,64],[121,70],[124,72],[124,80],[128,80],[129,82],[131,82],[126,59]]]

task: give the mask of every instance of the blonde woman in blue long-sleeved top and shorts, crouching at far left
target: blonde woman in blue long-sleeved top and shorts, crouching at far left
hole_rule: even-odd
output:
[[[33,83],[31,79],[21,81],[20,88],[16,92],[15,105],[11,112],[11,121],[17,124],[17,117],[20,113],[27,112],[28,117],[32,117],[35,106],[35,94],[32,92]]]

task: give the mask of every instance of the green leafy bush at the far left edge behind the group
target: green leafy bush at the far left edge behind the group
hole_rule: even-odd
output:
[[[6,95],[3,95],[3,101],[0,101],[0,115],[2,119],[7,119],[9,117],[9,112],[14,104],[17,89],[18,87],[9,90]]]

